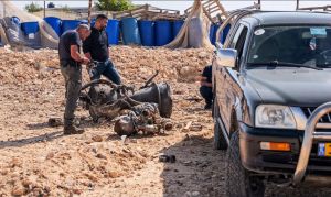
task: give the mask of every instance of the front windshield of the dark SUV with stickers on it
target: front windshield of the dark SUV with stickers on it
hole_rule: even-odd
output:
[[[250,43],[248,65],[275,61],[331,68],[331,26],[256,29]]]

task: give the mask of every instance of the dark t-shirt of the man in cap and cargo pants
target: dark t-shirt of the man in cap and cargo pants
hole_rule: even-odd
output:
[[[72,45],[78,45],[78,52],[81,53],[79,34],[74,30],[66,31],[60,37],[58,56],[61,66],[65,66],[67,64],[76,64],[75,59],[71,56]]]

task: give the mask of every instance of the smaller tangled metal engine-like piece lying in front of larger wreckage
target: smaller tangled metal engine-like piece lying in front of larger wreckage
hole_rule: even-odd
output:
[[[172,122],[170,119],[161,118],[157,103],[142,103],[132,109],[115,122],[115,132],[118,135],[130,136],[142,131],[147,133],[160,133],[161,130],[170,131]]]

